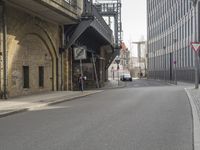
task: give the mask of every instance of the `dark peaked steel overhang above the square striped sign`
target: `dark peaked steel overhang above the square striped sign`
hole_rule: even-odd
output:
[[[74,30],[74,32],[72,33],[70,29]],[[78,25],[66,25],[65,36],[68,39],[66,49],[75,44],[78,39],[79,42],[83,41],[88,46],[92,44],[114,46],[112,32],[106,31],[96,19],[84,19]],[[89,40],[93,41],[93,43],[89,42]]]

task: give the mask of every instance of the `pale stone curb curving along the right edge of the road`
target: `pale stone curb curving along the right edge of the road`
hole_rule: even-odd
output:
[[[191,94],[189,93],[189,89],[192,88],[184,88],[187,96],[189,98],[189,102],[192,109],[192,118],[193,118],[193,144],[194,150],[200,150],[200,120],[198,117],[197,109]]]

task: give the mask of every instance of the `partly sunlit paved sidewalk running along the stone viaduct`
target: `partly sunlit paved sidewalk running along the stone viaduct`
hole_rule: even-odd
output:
[[[99,90],[89,90],[89,91],[56,91],[39,93],[28,96],[21,96],[16,98],[10,98],[7,100],[0,100],[0,118],[12,115],[15,113],[20,113],[24,111],[34,110],[40,107],[45,107],[49,105],[54,105],[57,103],[85,97],[95,93],[103,92],[103,89],[118,88],[123,87],[123,83],[119,82],[118,86],[117,80],[111,80],[106,82],[105,86]]]

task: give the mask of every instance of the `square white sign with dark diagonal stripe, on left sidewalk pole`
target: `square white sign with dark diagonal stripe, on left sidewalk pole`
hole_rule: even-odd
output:
[[[74,59],[75,60],[81,60],[81,59],[86,59],[86,47],[75,47],[74,48]]]

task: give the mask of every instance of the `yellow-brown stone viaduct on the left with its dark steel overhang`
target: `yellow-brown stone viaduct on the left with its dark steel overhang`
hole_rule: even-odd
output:
[[[89,0],[0,0],[0,97],[76,90],[82,46],[88,87],[103,86],[113,32]]]

